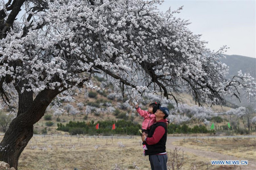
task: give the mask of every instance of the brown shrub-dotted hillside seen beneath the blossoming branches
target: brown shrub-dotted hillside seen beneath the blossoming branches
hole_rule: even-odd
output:
[[[98,77],[94,77],[93,80],[97,81],[96,83],[100,85],[100,82],[104,84],[103,79],[99,79]],[[87,94],[85,95],[86,91],[85,89],[76,90],[74,91],[74,95],[71,95],[73,100],[67,101],[66,99],[62,99],[60,101],[62,107],[64,107],[63,114],[59,115],[59,120],[57,121],[58,115],[54,114],[54,108],[51,106],[49,109],[47,109],[47,112],[45,115],[52,115],[52,120],[45,120],[45,117],[43,117],[36,125],[34,126],[35,133],[42,133],[42,131],[47,128],[48,133],[64,133],[61,131],[57,131],[57,124],[62,123],[66,124],[69,121],[85,121],[85,122],[97,122],[97,121],[117,121],[117,120],[126,120],[126,121],[132,121],[136,124],[141,124],[143,121],[143,118],[139,116],[134,109],[134,104],[129,102],[127,106],[124,106],[123,103],[128,98],[125,97],[123,100],[120,98],[120,92],[118,90],[114,90],[114,86],[111,84],[106,85],[105,90],[103,91],[96,91],[96,90],[89,90],[89,96]],[[116,92],[116,97],[111,97],[111,94]],[[91,95],[95,94],[95,95]],[[152,97],[152,96],[151,96]],[[183,93],[180,96],[183,100],[183,104],[187,104],[189,106],[194,106],[195,101],[192,99],[192,97],[189,94]],[[150,101],[151,100],[151,101]],[[154,98],[147,98],[144,97],[139,105],[143,110],[147,110],[148,104],[152,101],[161,101],[160,98],[157,96],[154,96]],[[77,103],[83,103],[83,106],[79,108],[77,106]],[[161,101],[161,103],[164,101]],[[65,106],[72,105],[75,110],[77,111],[76,114],[72,115],[72,112],[69,111],[67,114],[67,109]],[[169,108],[171,108],[170,103],[166,103]],[[170,105],[170,106],[169,106]],[[86,114],[88,107],[95,107],[94,109],[91,109],[91,111]],[[109,111],[108,108],[114,107],[115,111]],[[214,112],[226,112],[230,110],[230,107],[226,106],[213,106],[212,110]],[[52,121],[54,122],[54,125],[51,127],[47,127],[46,123]],[[194,126],[196,124],[191,124],[190,126]]]

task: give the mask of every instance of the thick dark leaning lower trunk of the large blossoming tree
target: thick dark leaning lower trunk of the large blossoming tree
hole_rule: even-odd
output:
[[[0,143],[0,161],[8,163],[17,170],[20,154],[33,137],[33,125],[44,116],[47,106],[62,91],[45,89],[37,95],[27,109],[19,107],[17,117],[11,122]],[[24,93],[24,95],[31,99],[31,94]],[[27,102],[24,101],[26,99],[24,95],[19,96],[19,106],[21,106],[20,103]]]

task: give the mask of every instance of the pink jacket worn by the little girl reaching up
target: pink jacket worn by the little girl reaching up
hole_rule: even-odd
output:
[[[142,117],[144,117],[142,122],[142,129],[149,129],[149,127],[156,122],[155,114],[151,114],[146,110],[141,110],[140,107],[136,110]]]

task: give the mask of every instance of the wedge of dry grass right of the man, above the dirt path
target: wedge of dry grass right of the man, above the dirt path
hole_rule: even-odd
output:
[[[195,139],[173,142],[188,148],[218,152],[236,157],[255,159],[256,138]]]

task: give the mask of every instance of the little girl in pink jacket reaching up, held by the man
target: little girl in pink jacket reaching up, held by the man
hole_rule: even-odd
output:
[[[155,112],[157,111],[157,109],[159,108],[160,104],[157,103],[151,103],[149,104],[149,108],[148,110],[141,110],[139,105],[137,104],[135,106],[137,112],[144,117],[144,120],[142,122],[142,133],[145,132],[145,134],[148,134],[148,130],[150,128],[151,125],[153,125],[156,122],[156,116],[155,116]],[[145,156],[145,150],[147,150],[147,146],[146,146],[146,142],[143,142],[143,156]]]

